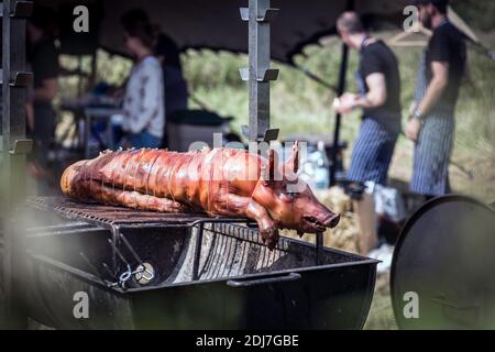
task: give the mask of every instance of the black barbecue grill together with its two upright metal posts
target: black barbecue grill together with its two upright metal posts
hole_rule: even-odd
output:
[[[20,10],[31,4],[3,1],[10,15],[3,19],[2,78],[11,82],[3,85],[3,202],[13,219],[6,226],[3,262],[12,327],[24,327],[25,305],[30,318],[61,329],[363,327],[377,262],[323,248],[321,233],[316,245],[282,238],[270,251],[246,219],[163,215],[64,197],[30,199],[23,212],[30,141],[24,90],[11,86],[28,80],[11,77],[29,76],[22,36],[29,11]],[[249,25],[250,63],[241,78],[250,86],[244,130],[251,142],[278,134],[270,129],[270,81],[278,75],[270,67],[270,22],[276,12],[270,0],[250,0],[240,12]],[[30,222],[28,238],[21,219]],[[76,300],[85,294],[89,318],[80,319]]]

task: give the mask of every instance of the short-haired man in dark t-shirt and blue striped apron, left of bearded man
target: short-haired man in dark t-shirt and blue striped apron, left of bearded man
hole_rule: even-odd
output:
[[[363,110],[360,132],[352,151],[346,178],[356,195],[354,209],[360,224],[360,252],[366,254],[377,242],[373,195],[365,183],[386,185],[387,172],[400,132],[400,77],[394,53],[364,31],[355,12],[337,21],[342,41],[359,51],[356,73],[360,94],[344,94],[334,102],[337,112]],[[358,191],[355,191],[358,190]]]

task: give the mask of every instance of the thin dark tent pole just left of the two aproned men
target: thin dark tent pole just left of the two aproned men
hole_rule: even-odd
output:
[[[345,4],[346,11],[352,11],[354,9],[354,0],[348,0]],[[349,47],[345,43],[342,43],[342,54],[339,70],[339,84],[337,87],[337,96],[340,97],[345,90],[345,74],[349,64]],[[337,174],[337,162],[338,162],[338,151],[340,143],[340,125],[341,125],[341,114],[336,114],[336,127],[333,130],[333,147],[331,155],[330,165],[330,186],[337,185],[336,174]]]

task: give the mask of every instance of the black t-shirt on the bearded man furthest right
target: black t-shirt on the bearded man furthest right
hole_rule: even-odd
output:
[[[433,31],[433,36],[428,43],[426,54],[428,82],[432,77],[431,62],[449,63],[449,85],[440,97],[440,103],[455,106],[464,76],[466,50],[464,35],[449,21]]]

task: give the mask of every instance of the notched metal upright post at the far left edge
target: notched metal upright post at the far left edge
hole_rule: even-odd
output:
[[[3,0],[2,15],[2,167],[1,216],[4,226],[2,255],[6,305],[1,314],[7,328],[26,328],[25,233],[19,215],[25,202],[25,154],[32,142],[25,139],[25,88],[32,74],[25,70],[25,19],[32,1]],[[1,323],[1,322],[0,322]]]

